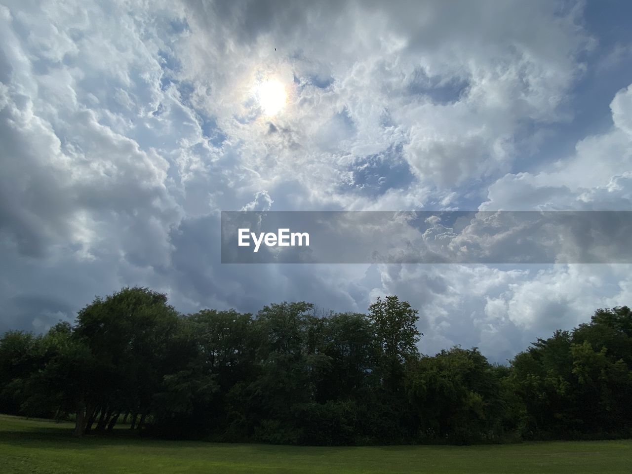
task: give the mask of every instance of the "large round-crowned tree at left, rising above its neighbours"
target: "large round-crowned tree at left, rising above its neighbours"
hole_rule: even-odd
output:
[[[124,411],[132,413],[132,427],[143,425],[168,374],[167,349],[180,320],[166,295],[147,288],[97,297],[79,312],[74,335],[94,367],[76,392],[77,435],[95,422],[105,430]]]

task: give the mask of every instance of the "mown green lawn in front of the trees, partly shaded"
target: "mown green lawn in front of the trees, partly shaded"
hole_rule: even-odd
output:
[[[632,440],[504,446],[295,447],[76,439],[69,423],[0,415],[0,472],[13,473],[608,473],[632,472]]]

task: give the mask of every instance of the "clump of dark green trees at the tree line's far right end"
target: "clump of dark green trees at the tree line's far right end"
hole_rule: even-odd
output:
[[[573,332],[538,339],[512,362],[525,437],[632,435],[632,312],[597,310]]]

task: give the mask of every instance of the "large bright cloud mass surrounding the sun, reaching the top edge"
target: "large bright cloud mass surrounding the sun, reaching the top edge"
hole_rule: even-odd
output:
[[[348,197],[323,190],[339,186],[358,157],[397,145],[418,181],[410,193],[508,169],[523,122],[561,118],[559,106],[583,70],[575,58],[590,47],[581,9],[556,11],[549,2],[187,3],[185,12],[190,35],[178,44],[179,75],[198,84],[194,102],[248,146],[244,167],[267,185],[297,177],[320,205],[347,204]],[[479,23],[487,35],[472,41]],[[221,67],[228,62],[231,68]],[[315,85],[320,76],[327,87]],[[274,126],[293,133],[292,147],[265,137],[269,124],[252,116],[248,90],[262,77],[291,92]],[[420,77],[423,92],[413,87]],[[455,81],[458,94],[437,103],[435,91]]]

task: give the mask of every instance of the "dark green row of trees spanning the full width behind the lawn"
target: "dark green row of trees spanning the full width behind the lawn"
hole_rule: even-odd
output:
[[[512,442],[632,435],[632,312],[597,310],[508,365],[418,351],[417,310],[305,302],[182,315],[123,288],[74,325],[0,338],[0,412],[142,434],[276,444]]]

